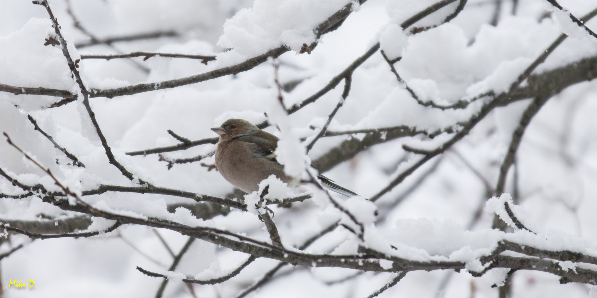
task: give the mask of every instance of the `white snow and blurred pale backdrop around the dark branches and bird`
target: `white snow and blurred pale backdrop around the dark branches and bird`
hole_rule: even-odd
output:
[[[395,64],[400,76],[421,100],[437,104],[456,103],[486,91],[507,90],[538,55],[562,32],[570,35],[534,73],[562,67],[583,58],[597,56],[597,39],[571,24],[567,15],[554,10],[544,0],[500,1],[498,23],[491,20],[495,1],[470,0],[449,23],[417,34],[399,28],[404,20],[436,1],[369,0],[353,4],[353,13],[335,31],[319,40],[309,54],[298,54],[303,43],[316,41],[313,27],[349,4],[347,0],[72,0],[72,14],[80,26],[97,39],[137,33],[176,32],[176,36],[85,46],[90,37],[75,27],[67,13],[68,2],[50,1],[69,43],[73,59],[89,54],[122,54],[134,51],[217,55],[207,65],[186,58],[143,57],[128,59],[84,59],[79,62],[87,88],[110,89],[143,82],[161,82],[208,72],[241,63],[280,45],[291,51],[278,58],[279,81],[289,86],[283,92],[290,107],[319,91],[356,58],[377,42]],[[560,4],[577,17],[597,7],[595,0],[562,0]],[[416,27],[438,24],[452,13],[458,1],[421,20]],[[597,30],[597,18],[586,22]],[[75,94],[79,87],[59,46],[44,46],[54,32],[47,11],[30,1],[0,0],[0,84],[65,89]],[[80,45],[75,48],[75,45]],[[228,49],[228,51],[227,51]],[[234,188],[216,170],[199,163],[174,164],[157,154],[128,156],[129,151],[179,144],[168,129],[191,140],[213,138],[210,130],[231,117],[253,123],[267,120],[280,123],[282,131],[270,126],[266,131],[287,141],[307,138],[310,142],[341,98],[343,82],[315,103],[288,117],[279,115],[278,89],[272,61],[248,72],[172,89],[143,92],[115,98],[90,98],[91,107],[112,147],[116,159],[138,178],[153,185],[186,190],[216,197],[233,197]],[[290,86],[298,83],[296,88]],[[0,131],[49,167],[71,190],[80,192],[100,184],[134,185],[108,163],[95,129],[82,102],[47,108],[58,97],[14,95],[0,92]],[[380,52],[373,54],[352,76],[352,89],[338,110],[329,131],[386,128],[399,125],[435,132],[458,128],[458,123],[475,114],[479,100],[465,109],[439,110],[417,104],[398,83]],[[376,221],[371,246],[385,239],[402,247],[408,256],[421,251],[431,257],[466,260],[454,252],[472,254],[491,247],[501,237],[492,231],[491,205],[483,209],[496,185],[499,167],[512,139],[512,133],[530,100],[516,101],[493,110],[461,141],[441,156],[421,166],[404,182],[376,201],[379,216],[367,218],[371,203],[334,195],[349,208],[359,210],[364,221]],[[506,193],[522,208],[525,224],[542,234],[544,241],[525,238],[515,232],[512,239],[528,241],[545,249],[573,249],[597,255],[597,85],[582,82],[564,89],[541,108],[522,139],[516,164],[506,183]],[[27,119],[38,125],[58,144],[85,164],[70,160]],[[315,129],[312,129],[315,128]],[[285,131],[285,129],[287,131]],[[315,161],[350,138],[363,134],[330,136],[319,139],[309,160]],[[402,170],[417,160],[416,154],[402,149],[433,149],[451,137],[434,139],[422,135],[398,138],[362,150],[355,157],[334,166],[325,175],[338,184],[371,197],[386,187]],[[163,153],[165,159],[207,154],[216,145],[205,144],[188,150]],[[290,150],[291,151],[291,150]],[[285,153],[282,153],[285,154]],[[301,150],[288,152],[301,159]],[[294,154],[294,155],[293,155]],[[289,163],[292,163],[290,161]],[[290,166],[290,164],[289,164]],[[297,164],[292,164],[297,166]],[[25,184],[44,184],[60,191],[38,167],[24,159],[13,147],[0,141],[0,169]],[[515,173],[516,172],[516,173]],[[0,177],[1,178],[1,177]],[[488,187],[490,188],[488,190]],[[303,190],[315,191],[313,187]],[[489,191],[489,192],[488,192]],[[21,194],[7,179],[0,179],[0,193]],[[242,197],[242,195],[241,195]],[[131,214],[169,219],[187,225],[217,226],[269,241],[257,215],[232,210],[203,221],[184,209],[170,213],[167,204],[193,203],[187,198],[155,194],[105,193],[84,197],[106,210],[130,210]],[[247,198],[251,200],[251,198]],[[495,202],[493,202],[495,203]],[[500,205],[500,204],[497,204]],[[315,191],[313,199],[296,202],[290,208],[270,206],[275,213],[282,242],[290,247],[332,224],[341,216]],[[499,209],[499,208],[494,208]],[[475,213],[481,210],[480,216]],[[362,214],[361,214],[362,213]],[[0,219],[56,221],[81,215],[66,212],[40,198],[1,198]],[[90,230],[106,228],[112,222],[94,218]],[[159,235],[176,254],[186,236],[167,229]],[[0,262],[4,297],[153,297],[162,278],[141,274],[136,266],[165,272],[172,257],[153,228],[124,225],[116,231],[90,238],[35,240],[12,234],[2,241],[0,254],[24,243],[24,247]],[[309,247],[313,253],[347,253],[355,247],[355,237],[337,228]],[[485,252],[487,253],[487,252]],[[426,256],[421,256],[426,257]],[[469,256],[470,257],[470,256]],[[225,275],[244,262],[247,254],[233,252],[216,244],[193,242],[177,272],[208,279]],[[236,297],[250,287],[278,261],[257,259],[241,274],[221,284],[194,284],[196,297]],[[409,272],[397,285],[380,297],[497,297],[494,283],[503,280],[506,269],[493,269],[483,277],[472,277],[466,270]],[[355,275],[358,274],[358,275]],[[344,278],[350,277],[347,280]],[[390,280],[390,274],[339,268],[307,268],[287,265],[253,297],[367,297]],[[34,280],[33,289],[8,288],[10,280]],[[559,284],[559,277],[538,271],[518,271],[512,277],[512,297],[587,297],[592,286]],[[183,283],[171,281],[164,297],[192,297]]]

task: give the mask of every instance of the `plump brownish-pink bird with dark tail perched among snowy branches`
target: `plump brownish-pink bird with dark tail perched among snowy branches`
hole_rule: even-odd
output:
[[[301,184],[299,179],[286,175],[284,166],[276,160],[277,136],[243,119],[228,119],[211,130],[220,135],[216,147],[216,169],[239,190],[253,193],[259,190],[260,182],[272,174],[288,187]],[[317,177],[331,191],[347,197],[358,195],[324,175],[318,174]]]

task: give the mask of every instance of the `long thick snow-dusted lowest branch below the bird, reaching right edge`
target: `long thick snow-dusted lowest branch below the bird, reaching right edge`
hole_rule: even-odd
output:
[[[273,246],[269,243],[257,241],[244,235],[235,234],[233,232],[224,231],[216,228],[202,227],[202,226],[185,226],[169,221],[162,221],[159,219],[140,219],[131,218],[130,216],[115,215],[112,213],[102,212],[101,210],[91,209],[88,205],[77,203],[77,206],[70,206],[70,204],[56,204],[64,210],[76,209],[78,212],[93,214],[94,216],[101,216],[107,219],[113,219],[122,224],[139,224],[146,226],[153,226],[158,228],[167,228],[173,231],[180,232],[184,235],[200,238],[214,244],[219,244],[230,249],[251,254],[256,257],[268,257],[270,259],[281,260],[283,262],[292,263],[293,265],[302,266],[328,266],[359,269],[364,271],[381,271],[381,272],[398,272],[398,271],[415,271],[415,270],[436,270],[436,269],[463,269],[465,264],[461,262],[418,262],[401,257],[389,256],[375,250],[361,247],[359,254],[354,255],[333,255],[333,254],[307,254],[300,253],[296,250],[287,250],[281,247]],[[232,238],[238,240],[233,240]],[[392,268],[386,269],[379,263],[379,259],[392,260]],[[597,272],[577,268],[577,271],[568,271],[562,269],[558,263],[554,263],[547,259],[534,259],[527,257],[510,257],[498,255],[493,257],[491,267],[510,268],[510,269],[530,269],[550,272],[564,278],[564,282],[581,282],[595,284]],[[472,272],[477,275],[477,273]],[[478,272],[483,274],[484,272]]]

